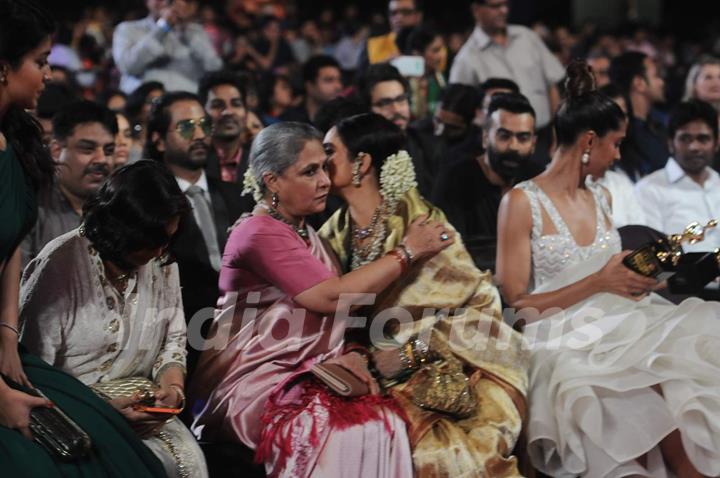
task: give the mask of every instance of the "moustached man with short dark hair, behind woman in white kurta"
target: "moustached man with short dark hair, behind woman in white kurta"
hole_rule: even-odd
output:
[[[38,197],[38,220],[21,245],[23,267],[45,245],[80,225],[85,200],[110,174],[118,131],[115,113],[92,101],[74,101],[52,119],[49,149],[57,181]]]

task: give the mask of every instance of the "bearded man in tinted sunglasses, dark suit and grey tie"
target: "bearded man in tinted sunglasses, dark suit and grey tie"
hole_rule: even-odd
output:
[[[227,230],[252,202],[240,186],[208,177],[211,120],[198,97],[173,92],[153,106],[145,155],[164,162],[188,196],[193,214],[180,225],[170,246],[180,268],[183,308],[188,321],[188,371],[197,361],[200,319],[209,327],[218,298],[218,275]],[[193,322],[193,317],[195,321]]]

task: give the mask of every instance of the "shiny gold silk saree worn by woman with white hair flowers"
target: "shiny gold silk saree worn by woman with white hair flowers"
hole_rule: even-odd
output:
[[[425,214],[452,230],[444,214],[413,189],[387,219],[384,250],[396,247],[408,226]],[[347,207],[333,215],[320,235],[347,271],[351,259]],[[404,309],[412,321],[391,327],[386,334],[401,344],[413,336],[429,340],[431,351],[464,371],[477,397],[474,413],[460,418],[413,401],[417,389],[434,387],[428,380],[431,375],[416,372],[390,389],[409,419],[416,476],[521,476],[511,452],[525,416],[529,354],[522,335],[502,320],[500,297],[490,273],[475,267],[459,235],[452,246],[414,265],[374,305],[353,315],[367,317],[369,325],[390,308]],[[367,329],[355,340],[372,345]]]

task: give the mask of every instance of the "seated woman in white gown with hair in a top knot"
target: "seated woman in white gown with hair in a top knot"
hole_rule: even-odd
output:
[[[532,347],[528,452],[551,476],[720,474],[720,305],[674,306],[622,264],[611,198],[623,113],[568,68],[548,169],[510,191],[497,279]]]

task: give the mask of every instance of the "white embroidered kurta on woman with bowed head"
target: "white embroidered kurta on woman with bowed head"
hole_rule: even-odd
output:
[[[126,291],[121,295],[107,280],[90,242],[77,229],[70,231],[51,241],[23,273],[22,343],[86,385],[155,379],[170,366],[184,369],[186,324],[177,265],[151,261]],[[144,442],[169,476],[207,476],[203,454],[179,420],[161,432],[172,446],[158,437]],[[173,455],[181,457],[182,467]]]

